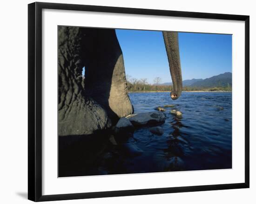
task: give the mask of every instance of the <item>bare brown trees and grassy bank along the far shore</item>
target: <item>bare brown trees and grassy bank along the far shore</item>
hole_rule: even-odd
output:
[[[161,85],[162,79],[155,77],[154,84],[149,84],[148,79],[135,79],[130,75],[126,75],[128,92],[164,92],[172,91],[171,85]],[[227,87],[194,87],[185,86],[182,91],[232,91],[231,86]]]

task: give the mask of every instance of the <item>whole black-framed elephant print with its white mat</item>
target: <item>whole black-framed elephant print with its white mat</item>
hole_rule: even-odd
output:
[[[28,199],[249,188],[249,16],[28,5]]]

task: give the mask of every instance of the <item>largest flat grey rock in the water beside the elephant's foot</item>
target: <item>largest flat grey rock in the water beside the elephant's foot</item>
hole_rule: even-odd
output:
[[[130,116],[129,120],[135,126],[159,125],[165,122],[165,115],[158,111],[143,112]]]

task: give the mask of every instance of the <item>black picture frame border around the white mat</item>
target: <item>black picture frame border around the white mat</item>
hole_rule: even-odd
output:
[[[245,22],[245,182],[125,191],[42,195],[42,9],[175,16]],[[96,197],[134,196],[189,191],[249,188],[249,16],[141,8],[103,7],[34,2],[28,5],[28,199],[53,201]]]

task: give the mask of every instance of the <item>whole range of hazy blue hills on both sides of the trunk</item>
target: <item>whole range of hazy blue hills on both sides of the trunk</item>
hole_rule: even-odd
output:
[[[159,84],[160,86],[172,85],[171,82]],[[207,79],[187,79],[182,81],[182,86],[212,88],[232,86],[232,73],[225,72]]]

